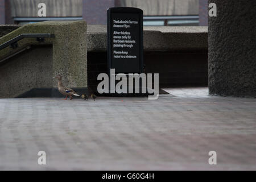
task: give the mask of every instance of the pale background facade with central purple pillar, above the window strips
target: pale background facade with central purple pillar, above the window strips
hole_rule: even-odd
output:
[[[0,0],[0,24],[11,24],[14,17],[38,17],[41,2],[47,17],[82,16],[88,24],[106,24],[106,10],[116,6],[138,7],[144,15],[199,14],[199,0]]]

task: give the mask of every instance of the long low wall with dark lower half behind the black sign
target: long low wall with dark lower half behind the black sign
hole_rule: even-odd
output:
[[[207,27],[144,27],[146,73],[159,73],[161,87],[208,85]],[[107,73],[106,26],[88,26],[88,85]]]

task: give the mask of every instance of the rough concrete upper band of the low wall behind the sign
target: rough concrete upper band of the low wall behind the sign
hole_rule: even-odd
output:
[[[207,27],[143,27],[144,51],[195,50],[208,48]],[[88,51],[106,51],[104,25],[88,25]]]

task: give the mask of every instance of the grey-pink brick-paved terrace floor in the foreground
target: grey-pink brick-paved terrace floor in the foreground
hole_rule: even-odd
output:
[[[256,169],[255,98],[166,90],[155,101],[1,99],[0,169]]]

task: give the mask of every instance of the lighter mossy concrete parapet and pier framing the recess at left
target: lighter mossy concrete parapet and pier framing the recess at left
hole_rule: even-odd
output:
[[[46,38],[44,42],[37,42],[35,38],[22,39],[18,42],[19,48],[15,50],[10,47],[2,49],[0,51],[0,59],[1,57],[5,57],[11,53],[17,52],[31,44],[50,44],[52,45],[52,70],[51,72],[45,73],[44,75],[47,75],[47,77],[48,75],[53,77],[59,73],[63,76],[63,83],[65,86],[69,86],[71,88],[87,87],[87,49],[85,21],[48,21],[27,24],[26,26],[22,26],[10,34],[0,38],[0,44],[5,43],[6,41],[24,33],[55,34],[55,38]],[[23,71],[26,72],[26,69]],[[39,73],[40,72],[38,72],[38,74]],[[40,76],[42,76],[42,73],[40,73]],[[19,77],[13,79],[19,81]],[[27,79],[30,79],[30,77],[27,77]],[[0,77],[0,81],[4,81],[2,77]],[[52,87],[56,87],[57,82],[53,80],[51,81]],[[43,85],[40,87],[43,87]],[[31,88],[27,89],[29,90]],[[13,95],[11,97],[15,96],[16,95]]]

